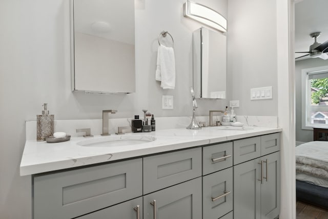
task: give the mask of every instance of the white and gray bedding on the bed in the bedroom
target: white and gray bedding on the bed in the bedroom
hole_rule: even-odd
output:
[[[297,180],[328,187],[328,142],[304,143],[296,147],[295,155]],[[306,175],[311,176],[309,180],[305,180]]]

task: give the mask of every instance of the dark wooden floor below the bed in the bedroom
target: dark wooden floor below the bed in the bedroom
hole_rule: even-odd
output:
[[[297,201],[296,218],[297,219],[328,219],[328,210]]]

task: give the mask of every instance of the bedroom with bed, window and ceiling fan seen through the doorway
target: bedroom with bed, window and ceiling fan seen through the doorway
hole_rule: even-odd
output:
[[[296,215],[328,218],[327,0],[295,1]]]

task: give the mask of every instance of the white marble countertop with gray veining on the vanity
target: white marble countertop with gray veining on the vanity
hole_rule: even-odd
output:
[[[88,147],[79,142],[90,139],[72,137],[70,141],[61,143],[26,141],[20,175],[31,175],[54,170],[79,167],[90,164],[115,161],[124,158],[166,152],[195,146],[226,142],[239,138],[281,132],[281,128],[252,127],[251,130],[221,130],[222,127],[206,127],[199,130],[186,128],[165,129],[148,133],[128,133],[111,136],[150,136],[155,141],[130,146]],[[109,136],[109,137],[111,137]],[[92,137],[105,138],[95,135]]]

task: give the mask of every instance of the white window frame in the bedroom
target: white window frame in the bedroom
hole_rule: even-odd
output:
[[[313,130],[314,127],[328,127],[328,124],[311,124],[311,111],[328,111],[328,106],[307,105],[311,99],[310,74],[320,74],[328,72],[328,66],[302,69],[301,90],[302,90],[302,129]]]

